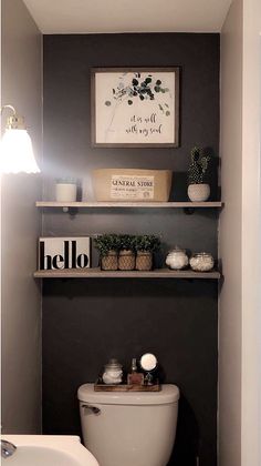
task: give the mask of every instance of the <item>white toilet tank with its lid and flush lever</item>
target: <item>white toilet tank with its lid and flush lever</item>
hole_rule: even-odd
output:
[[[77,391],[84,445],[100,466],[166,466],[175,442],[179,389]]]

